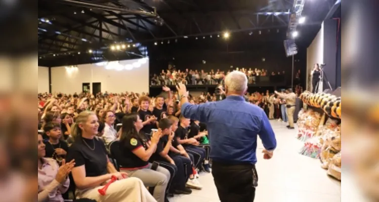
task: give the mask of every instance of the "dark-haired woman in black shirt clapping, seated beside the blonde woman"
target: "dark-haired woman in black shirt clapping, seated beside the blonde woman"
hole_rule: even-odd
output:
[[[122,133],[119,140],[110,143],[110,153],[120,165],[120,170],[127,172],[129,177],[137,177],[145,186],[154,187],[153,196],[158,202],[164,202],[165,190],[170,180],[170,172],[158,166],[151,170],[148,162],[154,153],[161,132],[154,132],[151,140],[141,133],[142,120],[133,113],[122,118]]]

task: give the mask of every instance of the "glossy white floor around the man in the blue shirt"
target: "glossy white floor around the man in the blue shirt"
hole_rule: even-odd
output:
[[[262,142],[257,149],[259,186],[255,201],[264,202],[339,202],[341,182],[326,175],[320,161],[300,155],[304,144],[296,139],[296,131],[288,130],[286,123],[271,121],[278,146],[273,159],[264,160]],[[175,195],[171,202],[216,202],[220,201],[212,174],[201,173],[202,190],[193,190],[189,195]]]

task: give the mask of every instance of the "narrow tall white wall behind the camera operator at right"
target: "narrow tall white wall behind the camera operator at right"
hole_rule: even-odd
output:
[[[312,90],[312,76],[311,71],[314,64],[324,63],[324,24],[322,23],[320,31],[313,39],[311,45],[307,48],[307,87],[306,89]],[[319,86],[322,91],[322,83]]]

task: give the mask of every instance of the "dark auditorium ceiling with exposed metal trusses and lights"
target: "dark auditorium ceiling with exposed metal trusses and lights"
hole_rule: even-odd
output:
[[[297,1],[40,0],[38,62],[139,58],[148,56],[149,45],[225,32],[246,36],[267,30],[285,33]],[[303,14],[310,16],[305,26],[316,31],[335,3],[301,1],[305,1]]]

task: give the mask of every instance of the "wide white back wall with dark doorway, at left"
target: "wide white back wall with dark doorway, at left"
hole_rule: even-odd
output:
[[[132,65],[139,60],[119,61]],[[96,64],[78,65],[77,69],[51,68],[52,92],[74,93],[82,91],[82,83],[100,82],[101,91],[120,93],[125,91],[149,92],[149,61],[131,70],[106,69]]]

